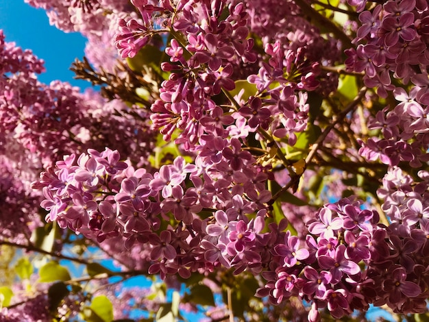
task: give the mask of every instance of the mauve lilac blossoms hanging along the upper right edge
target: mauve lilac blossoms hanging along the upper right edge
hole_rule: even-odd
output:
[[[369,123],[370,129],[381,129],[382,138],[361,143],[360,154],[367,160],[379,158],[390,166],[409,162],[416,168],[429,160],[428,10],[425,1],[390,0],[359,15],[362,25],[354,40],[359,45],[346,51],[350,57],[345,64],[352,71],[365,72],[365,85],[378,88],[378,95],[387,97],[393,91],[399,102],[379,111]]]

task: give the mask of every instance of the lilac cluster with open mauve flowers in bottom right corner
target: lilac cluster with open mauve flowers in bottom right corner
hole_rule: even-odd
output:
[[[282,233],[285,242],[273,247],[269,270],[262,272],[267,285],[257,295],[268,295],[272,304],[292,296],[310,301],[309,321],[320,319],[321,308],[340,319],[368,310],[369,304],[387,304],[404,314],[425,312],[424,243],[401,236],[395,225],[377,225],[377,212],[360,206],[341,199],[321,208],[317,219],[307,223],[306,249],[298,247],[297,237]],[[423,236],[418,231],[415,236]]]

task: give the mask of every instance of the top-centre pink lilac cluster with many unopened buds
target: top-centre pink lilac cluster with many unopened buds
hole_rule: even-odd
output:
[[[134,57],[154,34],[169,28],[173,31],[165,49],[170,62],[161,65],[169,79],[162,82],[160,99],[151,106],[154,129],[160,130],[164,140],[170,140],[180,129],[175,143],[195,151],[205,149],[206,142],[219,140],[216,136],[244,139],[248,133],[269,129],[274,136],[286,138],[289,145],[295,144],[296,134],[306,129],[306,91],[319,88],[319,64],[328,61],[320,54],[313,57],[315,48],[298,49],[297,44],[284,47],[280,40],[271,39],[265,44],[265,54],[257,55],[253,38],[248,37],[251,18],[246,5],[253,3],[196,1],[193,5],[180,2],[172,8],[167,2],[154,6],[134,1],[134,5],[142,20],[121,20],[121,32],[115,37],[122,57]],[[163,12],[162,28],[154,25],[156,12]],[[330,46],[317,39],[314,47]],[[259,72],[252,74],[258,61]],[[238,71],[234,66],[243,69]],[[246,70],[247,75],[243,75]],[[234,81],[243,76],[256,85],[255,95],[243,97],[241,92],[228,97],[236,87]],[[214,97],[219,96],[230,101],[228,108],[215,102]],[[219,150],[219,145],[215,146]],[[240,153],[238,145],[236,148]]]

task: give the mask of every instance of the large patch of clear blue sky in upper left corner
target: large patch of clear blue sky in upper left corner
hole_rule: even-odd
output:
[[[85,88],[89,82],[73,79],[69,70],[75,58],[82,59],[86,38],[79,33],[64,33],[49,25],[42,9],[35,9],[24,0],[0,0],[0,29],[7,42],[16,42],[23,49],[32,51],[45,60],[47,72],[40,75],[40,82],[60,79],[74,86]]]

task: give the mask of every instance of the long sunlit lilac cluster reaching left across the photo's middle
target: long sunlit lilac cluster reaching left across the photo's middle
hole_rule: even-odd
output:
[[[264,226],[271,193],[251,181],[256,174],[247,169],[247,177],[241,172],[245,169],[236,169],[235,177],[214,182],[215,169],[206,172],[182,157],[153,174],[119,159],[117,151],[88,150],[42,173],[33,187],[45,196],[46,220],[98,242],[121,237],[128,250],[145,245],[149,273],[163,277],[188,277],[219,264],[236,267],[236,272],[260,271],[264,250],[256,235]],[[228,169],[228,163],[223,166]],[[185,186],[185,179],[193,186]],[[247,186],[246,195],[236,181]],[[201,221],[196,214],[204,208],[219,210]],[[249,220],[247,215],[258,209],[256,219]],[[160,229],[167,218],[169,227]]]

